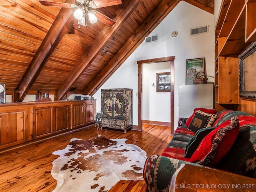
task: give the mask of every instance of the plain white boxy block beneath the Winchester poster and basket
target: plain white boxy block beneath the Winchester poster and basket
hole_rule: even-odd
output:
[[[189,118],[194,108],[212,109],[213,84],[179,85],[179,118]]]

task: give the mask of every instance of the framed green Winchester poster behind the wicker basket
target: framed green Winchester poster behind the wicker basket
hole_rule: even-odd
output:
[[[194,78],[203,78],[205,73],[205,58],[187,59],[186,60],[186,85],[193,85]],[[196,74],[198,76],[196,77]],[[206,76],[206,75],[205,75]]]

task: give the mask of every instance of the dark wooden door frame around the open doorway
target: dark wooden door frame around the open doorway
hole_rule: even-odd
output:
[[[159,62],[170,62],[170,73],[171,73],[171,128],[170,133],[174,134],[174,59],[175,56],[161,57],[147,60],[137,61],[138,64],[138,130],[142,130],[142,66],[143,64],[159,63]]]

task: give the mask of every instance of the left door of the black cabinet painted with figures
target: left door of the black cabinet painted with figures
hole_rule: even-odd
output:
[[[113,117],[113,101],[112,101],[112,91],[101,92],[101,111],[102,118],[112,118]]]

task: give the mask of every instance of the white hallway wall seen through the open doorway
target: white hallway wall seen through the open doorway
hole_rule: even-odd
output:
[[[142,120],[170,122],[171,94],[156,92],[156,73],[162,72],[170,72],[170,62],[144,64],[142,67]]]

